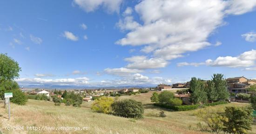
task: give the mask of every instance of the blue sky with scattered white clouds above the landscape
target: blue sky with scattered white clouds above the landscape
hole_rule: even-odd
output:
[[[256,0],[8,0],[0,53],[22,85],[256,79]]]

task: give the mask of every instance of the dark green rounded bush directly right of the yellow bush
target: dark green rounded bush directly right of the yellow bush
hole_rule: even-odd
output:
[[[112,105],[114,115],[126,118],[143,118],[144,107],[142,103],[133,99],[115,101]]]

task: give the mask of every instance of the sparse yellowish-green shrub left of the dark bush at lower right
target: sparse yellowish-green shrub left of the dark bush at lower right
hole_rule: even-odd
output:
[[[218,114],[218,111],[215,111],[212,108],[205,108],[198,111],[196,114],[207,126],[209,129],[219,134],[222,131],[223,122],[222,122],[222,115]]]

